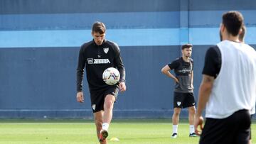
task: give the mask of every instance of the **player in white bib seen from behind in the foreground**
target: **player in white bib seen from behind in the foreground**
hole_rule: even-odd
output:
[[[240,12],[224,13],[221,42],[206,52],[195,121],[201,144],[249,142],[250,110],[256,101],[256,51],[240,43],[242,25]],[[201,114],[205,107],[203,127]]]

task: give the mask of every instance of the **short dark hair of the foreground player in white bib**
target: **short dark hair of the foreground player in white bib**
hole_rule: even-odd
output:
[[[228,33],[233,36],[238,35],[243,25],[243,17],[239,11],[228,11],[223,14],[223,25],[227,28]]]

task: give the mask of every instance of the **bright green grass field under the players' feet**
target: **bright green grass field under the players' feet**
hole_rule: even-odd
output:
[[[188,123],[178,126],[178,138],[172,139],[171,121],[113,121],[109,144],[196,144],[199,138],[188,137]],[[256,123],[252,141],[256,141]],[[0,144],[98,144],[93,121],[0,121]]]

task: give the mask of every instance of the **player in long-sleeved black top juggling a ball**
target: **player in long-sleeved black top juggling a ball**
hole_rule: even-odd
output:
[[[93,40],[83,44],[80,48],[77,68],[77,96],[78,102],[84,102],[82,93],[82,79],[84,68],[90,90],[92,112],[95,118],[97,137],[101,144],[107,143],[108,128],[112,120],[112,109],[118,92],[126,90],[125,70],[116,43],[105,39],[106,27],[102,22],[92,25]],[[120,72],[118,84],[107,85],[102,79],[102,73],[108,67],[117,67]]]

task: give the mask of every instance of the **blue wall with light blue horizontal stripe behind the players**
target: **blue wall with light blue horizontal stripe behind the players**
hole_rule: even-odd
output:
[[[222,13],[230,10],[242,12],[245,41],[256,47],[252,0],[0,1],[0,118],[92,118],[86,81],[85,104],[75,100],[75,76],[94,21],[106,24],[127,70],[114,118],[171,118],[174,82],[161,67],[192,43],[197,96],[205,52],[218,43]]]

